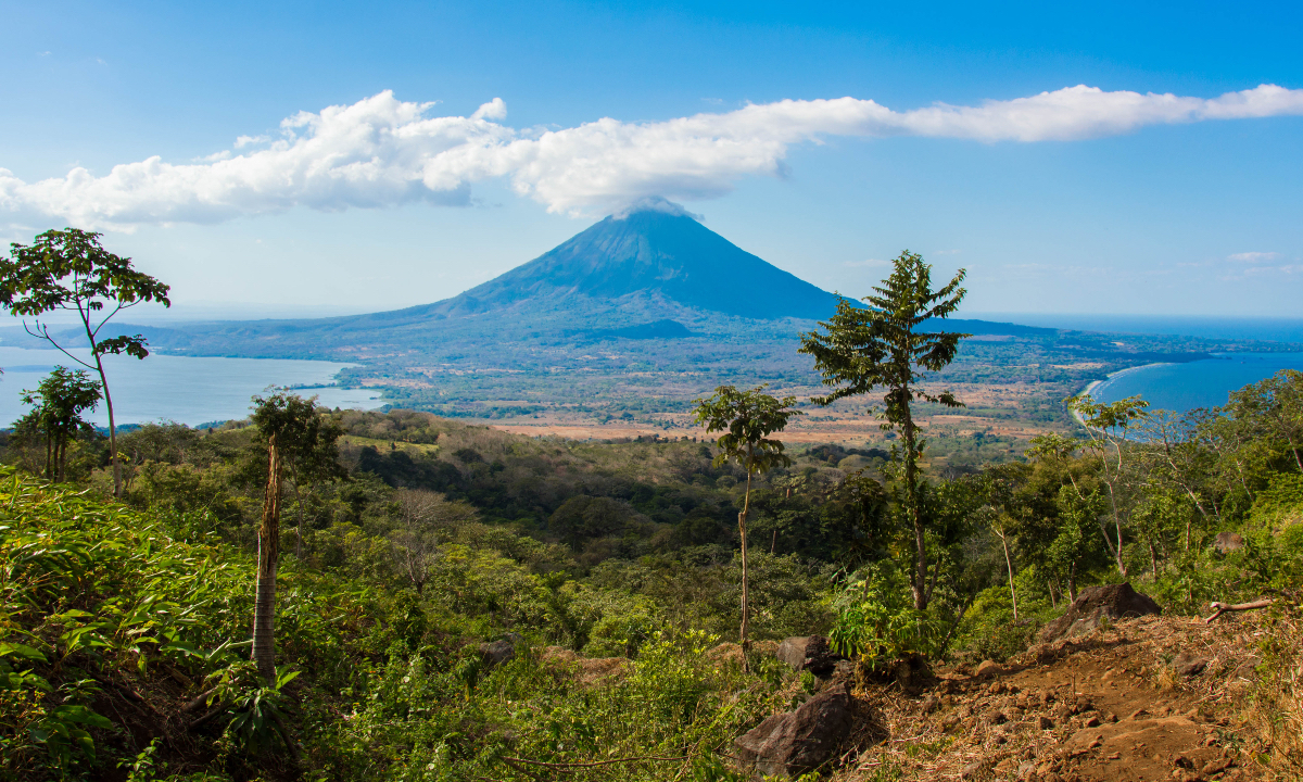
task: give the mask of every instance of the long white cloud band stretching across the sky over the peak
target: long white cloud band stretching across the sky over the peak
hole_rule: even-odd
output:
[[[0,168],[0,211],[86,228],[211,223],[293,206],[383,207],[469,202],[473,182],[507,177],[551,211],[618,211],[649,197],[702,199],[737,180],[782,176],[788,147],[830,136],[928,136],[982,142],[1070,141],[1144,125],[1303,115],[1303,90],[1261,85],[1220,98],[1105,93],[1076,86],[980,106],[893,111],[873,100],[780,100],[661,123],[601,119],[560,130],[513,129],[495,98],[469,117],[427,116],[433,103],[390,91],[298,112],[280,137],[241,136],[238,155],[189,164],[154,156],[104,176],[74,168],[25,182]]]

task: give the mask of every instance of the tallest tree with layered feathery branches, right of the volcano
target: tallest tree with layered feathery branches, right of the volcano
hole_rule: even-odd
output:
[[[936,573],[928,579],[928,520],[923,516],[919,497],[919,459],[925,442],[919,439],[911,404],[915,399],[963,407],[946,391],[932,395],[919,388],[923,370],[939,371],[955,360],[959,340],[968,334],[946,331],[919,331],[919,326],[933,318],[946,318],[959,308],[964,291],[959,284],[964,270],[939,291],[932,289],[932,266],[923,257],[906,250],[893,261],[891,276],[874,285],[876,296],[866,296],[868,308],[842,298],[837,314],[821,322],[823,330],[801,335],[801,353],[814,356],[814,368],[823,374],[823,384],[835,390],[817,396],[814,403],[826,405],[847,396],[869,394],[885,388],[882,396],[883,430],[899,429],[904,439],[903,482],[906,512],[913,525],[915,562],[909,570],[909,585],[917,610],[928,607]],[[899,451],[893,450],[893,459]]]

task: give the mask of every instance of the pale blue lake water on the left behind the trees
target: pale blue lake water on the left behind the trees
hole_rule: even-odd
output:
[[[89,358],[86,351],[73,351]],[[20,401],[25,388],[35,388],[55,366],[81,369],[59,351],[0,347],[0,426],[9,426],[30,408]],[[279,358],[207,358],[152,353],[143,361],[128,356],[106,357],[113,418],[121,424],[168,420],[195,426],[249,416],[249,398],[268,386],[313,386],[334,382],[349,364]],[[91,373],[94,375],[94,373]],[[95,378],[98,379],[98,377]],[[380,392],[353,388],[304,388],[327,407],[374,409]],[[86,418],[108,425],[100,403]]]

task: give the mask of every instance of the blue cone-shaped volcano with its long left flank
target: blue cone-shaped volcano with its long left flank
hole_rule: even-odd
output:
[[[794,334],[837,296],[743,250],[668,202],[611,215],[487,283],[400,310],[304,321],[147,327],[189,355],[344,358],[472,345]],[[122,328],[137,328],[124,326]],[[134,331],[133,331],[134,332]],[[470,351],[473,352],[473,351]],[[465,355],[464,352],[461,355]]]

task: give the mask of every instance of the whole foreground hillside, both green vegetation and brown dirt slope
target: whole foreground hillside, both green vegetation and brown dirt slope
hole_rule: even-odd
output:
[[[740,738],[830,699],[846,740],[808,766],[838,782],[1303,768],[1303,477],[1252,403],[1119,444],[1121,562],[1091,454],[930,468],[923,610],[890,454],[797,450],[752,481],[749,654],[747,481],[711,444],[317,416],[340,472],[284,494],[275,682],[246,659],[257,427],[122,433],[124,500],[102,437],[70,485],[30,476],[39,438],[0,438],[0,777],[747,782]],[[1037,645],[1122,568],[1161,616]],[[812,633],[850,659],[797,670],[783,649]]]

